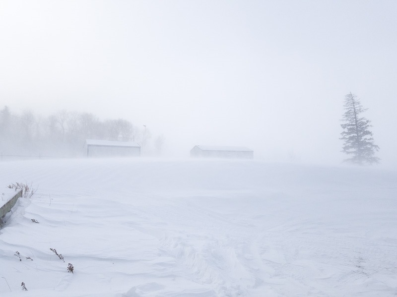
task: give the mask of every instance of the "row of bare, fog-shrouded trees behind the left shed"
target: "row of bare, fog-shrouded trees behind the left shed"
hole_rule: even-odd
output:
[[[0,110],[0,152],[2,155],[48,155],[79,157],[86,139],[134,141],[148,146],[150,131],[126,119],[100,120],[90,113],[59,111],[50,116],[31,111]],[[158,146],[158,139],[156,146]],[[161,143],[162,144],[162,143]],[[157,148],[158,149],[158,148]],[[161,148],[160,148],[161,149]]]

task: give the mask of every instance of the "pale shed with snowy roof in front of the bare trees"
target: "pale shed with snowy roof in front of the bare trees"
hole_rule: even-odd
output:
[[[84,154],[87,157],[139,157],[140,145],[132,141],[87,139]]]

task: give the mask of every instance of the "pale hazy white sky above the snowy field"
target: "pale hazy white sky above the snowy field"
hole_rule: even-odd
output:
[[[0,109],[145,125],[163,156],[232,145],[337,165],[352,92],[396,167],[396,15],[394,0],[2,0]]]

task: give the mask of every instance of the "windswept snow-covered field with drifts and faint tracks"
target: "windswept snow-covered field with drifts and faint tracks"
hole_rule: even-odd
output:
[[[38,186],[0,229],[2,297],[397,295],[396,171],[145,159],[0,169],[1,186]]]

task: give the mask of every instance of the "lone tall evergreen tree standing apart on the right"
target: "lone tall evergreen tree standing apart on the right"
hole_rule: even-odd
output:
[[[351,155],[351,158],[345,161],[354,164],[363,165],[364,163],[379,163],[379,158],[375,157],[375,151],[379,146],[374,144],[372,132],[369,130],[371,121],[361,116],[364,109],[357,99],[357,96],[351,92],[345,96],[344,110],[341,124],[343,132],[340,133],[341,140],[344,141],[342,152]]]

